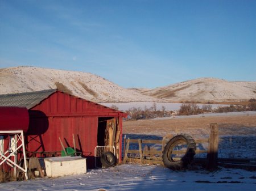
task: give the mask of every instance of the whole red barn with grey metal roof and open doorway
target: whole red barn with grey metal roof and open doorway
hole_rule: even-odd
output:
[[[122,118],[126,113],[57,90],[0,95],[0,106],[28,109],[28,153],[61,151],[59,138],[65,147],[73,147],[74,134],[76,148],[86,157],[88,168],[94,167],[94,148],[106,146],[107,122],[115,119],[113,145],[121,162]]]

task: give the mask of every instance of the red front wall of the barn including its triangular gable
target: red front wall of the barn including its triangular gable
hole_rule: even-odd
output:
[[[77,150],[86,156],[88,168],[94,167],[98,117],[122,115],[110,108],[59,91],[29,112],[27,151],[60,151],[59,137],[65,147],[73,147],[74,134]]]

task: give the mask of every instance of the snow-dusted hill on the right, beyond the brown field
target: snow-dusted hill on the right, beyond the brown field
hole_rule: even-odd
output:
[[[199,78],[141,91],[142,94],[172,101],[241,101],[256,97],[256,82],[229,82]]]

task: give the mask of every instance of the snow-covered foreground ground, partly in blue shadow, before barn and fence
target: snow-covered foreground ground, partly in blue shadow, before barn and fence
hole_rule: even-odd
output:
[[[222,168],[171,171],[157,165],[125,164],[54,179],[38,178],[0,184],[9,190],[255,190],[256,172]]]

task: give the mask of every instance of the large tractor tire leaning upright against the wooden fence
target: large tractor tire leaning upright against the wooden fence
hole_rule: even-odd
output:
[[[181,142],[187,145],[187,150],[185,151],[185,154],[182,156],[182,158],[175,160],[172,157],[172,155],[174,155],[173,149]],[[170,169],[184,169],[188,164],[192,162],[194,155],[196,154],[195,151],[196,142],[191,136],[188,134],[176,135],[164,147],[162,155],[164,166]]]

